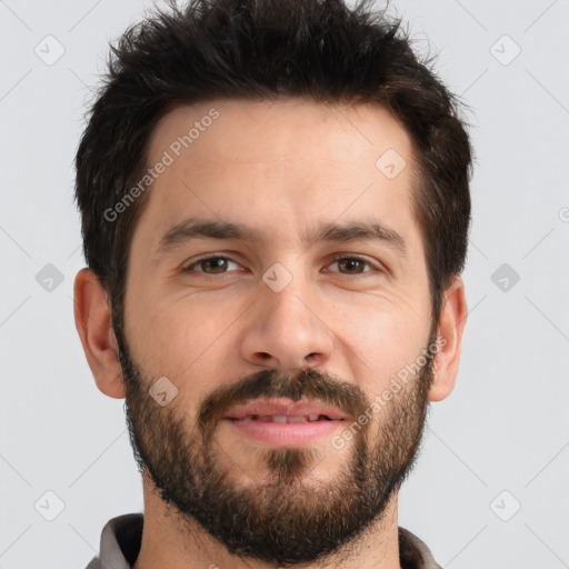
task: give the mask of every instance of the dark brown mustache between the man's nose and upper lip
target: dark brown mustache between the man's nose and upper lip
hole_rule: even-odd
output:
[[[343,415],[357,418],[370,406],[369,398],[356,385],[316,369],[302,369],[288,373],[261,370],[240,381],[220,386],[206,396],[198,409],[197,425],[208,440],[216,425],[234,406],[257,399],[287,398],[318,400],[339,409]]]

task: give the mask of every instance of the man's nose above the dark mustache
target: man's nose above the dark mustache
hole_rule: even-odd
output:
[[[242,358],[280,372],[325,366],[332,355],[335,335],[325,321],[326,312],[316,301],[316,293],[299,286],[298,279],[280,292],[264,283],[261,287],[257,302],[248,311]]]

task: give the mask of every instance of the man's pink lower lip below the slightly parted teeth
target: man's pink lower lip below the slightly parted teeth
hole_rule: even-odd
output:
[[[242,435],[279,447],[308,445],[330,436],[345,420],[307,422],[269,422],[258,420],[224,419]]]

